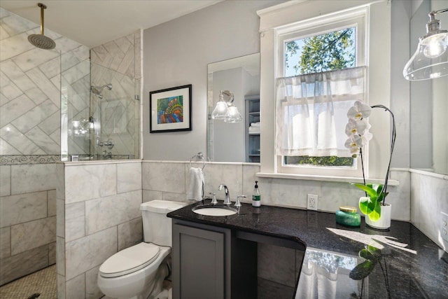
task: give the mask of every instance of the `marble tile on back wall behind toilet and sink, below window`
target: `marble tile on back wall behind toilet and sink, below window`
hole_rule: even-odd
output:
[[[142,162],[143,200],[186,201],[188,188],[189,162]],[[202,167],[193,163],[193,167]],[[207,162],[204,167],[205,195],[216,193],[218,200],[224,199],[224,192],[218,191],[220,183],[225,183],[230,190],[230,197],[235,201],[237,195],[248,196],[243,202],[251,202],[255,180],[261,193],[262,204],[279,207],[306,209],[307,194],[318,195],[318,209],[335,212],[342,205],[358,206],[362,191],[349,183],[328,181],[306,181],[295,179],[260,178],[259,165],[248,163]],[[409,171],[394,170],[391,177],[400,181],[399,186],[391,186],[389,202],[409,207]],[[410,220],[409,209],[393,209],[392,218],[401,221]]]

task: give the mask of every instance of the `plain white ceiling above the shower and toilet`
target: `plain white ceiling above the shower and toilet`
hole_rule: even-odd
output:
[[[44,29],[93,48],[138,29],[162,24],[199,11],[222,0],[1,0],[0,7],[20,17],[41,23]],[[45,34],[45,31],[44,31]]]

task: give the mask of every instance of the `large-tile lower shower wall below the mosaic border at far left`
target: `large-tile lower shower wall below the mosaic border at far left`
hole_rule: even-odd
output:
[[[0,285],[56,263],[55,164],[1,165]]]

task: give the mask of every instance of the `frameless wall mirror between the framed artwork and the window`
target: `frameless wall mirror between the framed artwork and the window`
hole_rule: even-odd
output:
[[[207,75],[207,157],[214,162],[260,162],[260,130],[256,128],[260,123],[260,53],[208,64]],[[221,90],[233,93],[241,122],[211,118]]]

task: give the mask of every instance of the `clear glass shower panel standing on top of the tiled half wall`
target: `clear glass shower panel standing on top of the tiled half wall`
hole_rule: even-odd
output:
[[[139,80],[61,55],[61,160],[139,158]]]

